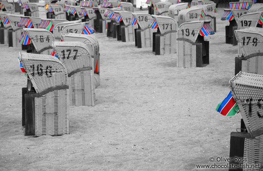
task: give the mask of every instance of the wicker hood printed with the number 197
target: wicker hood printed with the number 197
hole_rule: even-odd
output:
[[[238,20],[238,29],[247,28],[247,27],[256,27],[258,22],[262,23],[262,21],[260,20],[261,16],[262,16],[262,12],[248,13],[242,15]]]

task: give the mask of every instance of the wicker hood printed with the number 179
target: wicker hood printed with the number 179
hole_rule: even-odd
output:
[[[235,30],[235,35],[245,58],[263,56],[263,29],[248,27]]]

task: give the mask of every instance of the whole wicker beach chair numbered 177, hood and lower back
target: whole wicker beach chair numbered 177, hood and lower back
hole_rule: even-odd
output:
[[[71,105],[94,106],[94,67],[86,45],[80,41],[56,41],[53,48],[68,71]]]

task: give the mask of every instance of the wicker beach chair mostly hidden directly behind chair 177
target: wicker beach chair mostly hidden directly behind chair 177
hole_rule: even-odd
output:
[[[81,41],[83,42],[92,57],[94,58],[94,84],[95,88],[100,86],[100,53],[99,42],[93,35],[68,33],[61,35],[63,41]]]

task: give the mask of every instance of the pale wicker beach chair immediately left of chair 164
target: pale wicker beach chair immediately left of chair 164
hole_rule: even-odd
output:
[[[21,16],[16,14],[8,14],[7,18],[13,29],[12,40],[9,40],[9,47],[21,48],[21,44],[19,43],[19,40],[22,33],[22,27],[18,26]]]

